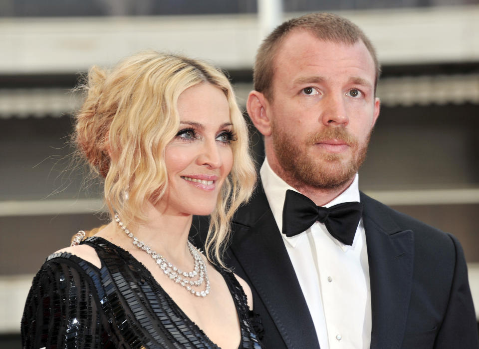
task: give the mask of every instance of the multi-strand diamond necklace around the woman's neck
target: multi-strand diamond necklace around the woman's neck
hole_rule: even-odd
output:
[[[168,262],[165,257],[159,253],[153,251],[150,246],[146,245],[143,241],[138,240],[123,224],[123,222],[118,217],[118,213],[115,214],[115,222],[118,223],[120,228],[126,233],[126,235],[133,240],[133,245],[138,247],[140,250],[148,253],[151,258],[156,261],[156,264],[163,270],[163,273],[168,276],[171,281],[174,281],[178,285],[185,288],[192,295],[197,297],[206,297],[211,290],[210,280],[208,279],[208,273],[206,271],[206,264],[201,257],[201,253],[193,246],[193,244],[188,241],[188,249],[190,250],[191,256],[195,261],[195,268],[191,272],[183,272],[175,267],[173,264]],[[197,280],[192,280],[194,277],[199,275]],[[190,280],[189,280],[190,279]],[[204,291],[195,291],[193,287],[200,286],[205,281],[205,290]]]

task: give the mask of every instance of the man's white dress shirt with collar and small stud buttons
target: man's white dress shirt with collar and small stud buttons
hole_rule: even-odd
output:
[[[273,172],[267,159],[264,159],[259,174],[281,231],[286,190],[297,190]],[[353,183],[324,207],[349,201],[360,201],[357,174]],[[371,291],[362,219],[352,246],[333,238],[326,226],[318,221],[296,236],[281,236],[311,313],[321,349],[369,348]]]

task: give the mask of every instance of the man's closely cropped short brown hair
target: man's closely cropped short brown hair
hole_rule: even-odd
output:
[[[319,40],[324,41],[353,45],[358,40],[362,40],[374,60],[376,68],[374,90],[376,91],[381,65],[373,44],[364,32],[349,19],[325,12],[309,13],[285,21],[264,39],[259,46],[254,63],[253,82],[256,91],[263,93],[267,99],[272,100],[274,57],[287,34],[296,29],[307,30],[316,35]]]

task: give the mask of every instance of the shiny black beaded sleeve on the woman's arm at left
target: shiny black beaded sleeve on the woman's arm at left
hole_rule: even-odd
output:
[[[91,275],[57,257],[33,279],[21,319],[22,348],[100,348],[104,316]]]

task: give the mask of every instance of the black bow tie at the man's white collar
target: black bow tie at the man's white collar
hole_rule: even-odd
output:
[[[345,202],[329,208],[317,206],[303,194],[288,189],[284,199],[282,233],[294,236],[319,221],[326,225],[329,234],[351,246],[362,211],[359,202]]]

